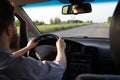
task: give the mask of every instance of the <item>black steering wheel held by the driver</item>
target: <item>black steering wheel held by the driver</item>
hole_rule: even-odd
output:
[[[42,43],[42,41],[46,39],[55,39],[57,41],[59,37],[54,34],[43,34],[43,35],[38,36],[34,40],[35,42],[38,42],[38,45],[29,51],[29,56],[34,57],[37,60],[43,60],[47,58],[50,58],[49,60],[52,60],[52,56],[55,55],[54,52],[56,52],[56,47],[53,46],[54,44],[46,45]],[[41,52],[42,50],[44,50],[43,51],[44,53]]]

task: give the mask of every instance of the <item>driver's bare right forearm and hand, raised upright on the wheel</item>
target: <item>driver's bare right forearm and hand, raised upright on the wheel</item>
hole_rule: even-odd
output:
[[[63,39],[60,38],[56,42],[56,46],[57,46],[57,56],[55,61],[62,62],[64,64],[64,68],[66,69],[67,67],[67,61],[65,56],[66,43],[64,42]]]

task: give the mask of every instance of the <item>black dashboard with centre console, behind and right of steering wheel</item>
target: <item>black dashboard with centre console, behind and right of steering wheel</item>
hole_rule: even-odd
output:
[[[115,73],[110,53],[109,39],[64,38],[64,40],[66,42],[67,69],[64,73],[63,80],[74,80],[79,74],[84,73]],[[42,51],[40,53],[54,54],[49,55],[45,59],[55,59],[55,43],[55,39],[45,39],[39,42],[38,49],[42,48],[40,49]]]

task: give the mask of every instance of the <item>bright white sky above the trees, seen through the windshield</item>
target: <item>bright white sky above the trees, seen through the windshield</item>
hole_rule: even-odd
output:
[[[92,20],[95,23],[102,23],[106,22],[107,18],[112,16],[114,9],[116,7],[116,3],[93,3],[92,4],[92,12],[86,13],[86,14],[79,14],[79,15],[62,15],[62,6],[25,6],[24,9],[30,16],[32,20],[39,20],[44,21],[45,23],[49,24],[50,19],[54,19],[55,17],[60,18],[62,21],[67,20],[82,20],[82,21],[88,21]]]

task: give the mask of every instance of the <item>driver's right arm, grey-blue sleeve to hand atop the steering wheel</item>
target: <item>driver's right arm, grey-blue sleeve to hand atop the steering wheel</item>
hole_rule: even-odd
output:
[[[67,66],[65,57],[66,44],[64,40],[59,39],[56,42],[56,46],[57,56],[55,61],[38,61],[31,57],[23,58],[24,61],[22,61],[24,64],[27,67],[30,67],[25,67],[25,70],[28,70],[29,72],[28,74],[31,74],[31,76],[35,75],[35,78],[39,80],[61,80]]]

